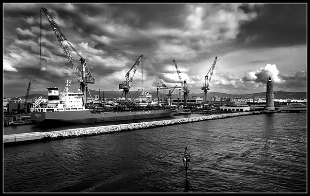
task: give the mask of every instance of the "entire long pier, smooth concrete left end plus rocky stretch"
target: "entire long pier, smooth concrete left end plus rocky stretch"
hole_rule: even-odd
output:
[[[20,133],[12,135],[3,135],[3,145],[7,144],[16,144],[16,143],[25,143],[33,141],[42,141],[42,140],[53,140],[53,139],[62,139],[70,137],[85,137],[90,135],[98,135],[104,133],[113,133],[121,131],[133,131],[140,129],[148,129],[162,126],[171,126],[183,123],[198,122],[203,120],[213,120],[220,118],[229,118],[235,116],[243,115],[256,115],[256,114],[271,114],[276,113],[277,111],[254,111],[254,112],[239,112],[239,113],[230,113],[230,114],[214,114],[208,116],[200,117],[188,117],[172,120],[160,120],[152,122],[140,122],[140,123],[130,123],[130,124],[120,124],[120,125],[108,125],[102,127],[88,127],[88,128],[77,128],[77,129],[68,129],[62,131],[49,131],[49,132],[31,132],[31,133]]]

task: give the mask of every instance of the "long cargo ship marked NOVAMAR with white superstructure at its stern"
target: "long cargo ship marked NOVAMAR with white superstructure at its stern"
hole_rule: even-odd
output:
[[[124,104],[109,107],[85,107],[83,92],[70,91],[71,81],[66,80],[63,93],[57,87],[48,89],[48,100],[39,97],[31,107],[31,119],[38,124],[49,123],[98,123],[137,120],[174,115],[171,108],[162,106],[138,106]]]

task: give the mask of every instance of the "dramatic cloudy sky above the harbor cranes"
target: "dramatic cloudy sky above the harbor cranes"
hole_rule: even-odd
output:
[[[62,91],[66,79],[78,90],[41,7],[85,59],[95,78],[92,90],[121,91],[118,85],[143,54],[133,92],[156,91],[158,82],[181,87],[175,59],[190,93],[202,93],[216,56],[209,92],[265,92],[268,77],[274,91],[307,91],[306,3],[4,3],[4,97],[24,96],[29,82],[30,94]],[[78,55],[68,49],[80,70]]]

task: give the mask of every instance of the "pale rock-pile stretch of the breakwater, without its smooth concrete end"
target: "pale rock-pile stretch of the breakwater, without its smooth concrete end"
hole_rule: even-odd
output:
[[[220,118],[229,118],[242,115],[252,115],[252,114],[268,114],[275,113],[275,111],[255,111],[255,112],[241,112],[241,113],[232,113],[232,114],[215,114],[208,116],[200,117],[190,117],[190,118],[181,118],[181,119],[172,119],[172,120],[161,120],[153,122],[141,122],[141,123],[131,123],[131,124],[121,124],[121,125],[109,125],[102,127],[89,127],[81,129],[71,129],[64,131],[53,131],[47,132],[47,139],[60,139],[60,138],[69,138],[69,137],[85,137],[90,135],[98,135],[103,133],[113,133],[121,131],[133,131],[140,129],[148,129],[162,126],[171,126],[183,123],[198,122],[203,120],[212,120]]]

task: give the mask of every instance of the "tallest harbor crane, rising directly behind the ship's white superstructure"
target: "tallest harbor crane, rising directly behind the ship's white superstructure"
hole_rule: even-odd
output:
[[[90,98],[91,98],[92,103],[93,103],[93,98],[89,92],[88,84],[94,83],[95,79],[93,78],[91,72],[89,71],[89,69],[86,65],[85,59],[78,53],[78,51],[71,45],[69,40],[64,36],[64,34],[62,33],[62,31],[60,30],[60,28],[58,27],[58,25],[54,21],[53,17],[48,12],[48,10],[44,7],[41,7],[41,11],[43,11],[45,13],[45,15],[47,16],[48,22],[49,22],[50,26],[52,27],[52,29],[56,35],[56,38],[57,38],[60,46],[62,47],[64,54],[66,55],[70,65],[72,66],[74,73],[78,77],[78,82],[79,82],[79,86],[80,86],[79,90],[81,90],[83,92],[83,105],[85,106],[87,103],[87,92],[89,93]],[[42,15],[42,12],[41,12],[41,15]],[[72,49],[74,51],[74,53],[76,53],[78,55],[79,61],[81,62],[81,72],[78,70],[78,66],[75,64],[69,50],[67,49],[67,46],[70,49]],[[40,49],[40,51],[41,51],[41,49]],[[93,103],[93,105],[94,105],[94,103]]]

